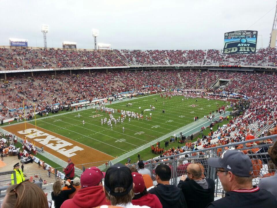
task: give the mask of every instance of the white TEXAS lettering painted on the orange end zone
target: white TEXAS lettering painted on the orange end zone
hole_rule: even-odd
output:
[[[28,134],[26,135],[26,138],[30,138],[33,139],[36,142],[39,142],[42,145],[45,145],[47,147],[49,147],[50,149],[57,151],[58,153],[61,153],[62,155],[65,155],[66,157],[72,157],[74,155],[76,155],[76,151],[82,151],[84,150],[81,147],[78,146],[74,146],[71,149],[66,150],[64,147],[66,146],[72,146],[73,144],[62,140],[60,138],[57,138],[53,135],[50,135],[48,133],[44,133],[43,131],[37,130],[37,129],[26,129],[23,131],[18,131],[18,133],[20,134]],[[31,133],[31,134],[29,134]],[[39,137],[37,139],[34,139],[36,137]],[[41,138],[42,137],[42,138]],[[58,144],[53,144],[52,142],[58,143]],[[50,143],[49,143],[50,142]]]

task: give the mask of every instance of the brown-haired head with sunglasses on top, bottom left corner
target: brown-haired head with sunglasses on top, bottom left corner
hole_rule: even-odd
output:
[[[28,180],[9,186],[6,193],[3,208],[48,208],[48,201],[44,192]]]

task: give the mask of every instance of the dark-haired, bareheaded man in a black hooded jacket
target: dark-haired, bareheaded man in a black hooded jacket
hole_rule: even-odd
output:
[[[187,208],[186,199],[182,190],[175,185],[170,185],[171,170],[165,164],[158,165],[156,170],[156,181],[158,185],[149,190],[150,194],[155,194],[163,208]]]

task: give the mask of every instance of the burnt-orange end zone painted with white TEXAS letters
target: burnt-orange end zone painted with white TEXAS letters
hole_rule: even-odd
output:
[[[26,136],[29,142],[35,143],[38,147],[44,146],[46,152],[63,161],[67,161],[68,158],[71,158],[75,164],[85,164],[114,159],[111,155],[107,155],[52,131],[38,126],[37,129],[35,129],[35,126],[29,123],[26,123],[26,130],[24,123],[2,127],[2,129],[12,132],[20,138]]]

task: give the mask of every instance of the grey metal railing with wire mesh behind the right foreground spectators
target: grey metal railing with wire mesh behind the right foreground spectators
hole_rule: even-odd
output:
[[[272,139],[273,142],[276,142],[277,135],[271,135],[271,136],[266,136],[266,137],[242,141],[242,142],[229,143],[226,145],[200,149],[197,151],[188,151],[179,155],[172,155],[167,157],[160,157],[153,160],[147,160],[147,161],[144,161],[145,168],[150,170],[153,184],[156,185],[157,184],[156,178],[155,178],[156,167],[159,164],[167,164],[171,168],[171,175],[172,175],[171,184],[178,185],[180,176],[182,174],[186,174],[185,170],[188,164],[190,163],[199,164],[202,170],[202,177],[211,178],[216,182],[215,196],[224,196],[224,190],[216,174],[216,169],[210,167],[207,164],[207,159],[209,157],[220,156],[226,147],[229,149],[235,146],[241,146],[241,148],[237,150],[244,151],[244,153],[248,154],[249,157],[251,158],[251,161],[253,164],[253,170],[254,170],[252,181],[253,181],[253,184],[258,184],[259,179],[262,178],[263,175],[268,174],[270,171],[276,170],[276,167],[274,167],[274,164],[270,162],[270,158],[267,154],[269,147],[272,146],[273,143],[261,144],[257,146],[251,146],[251,145],[249,146],[248,143],[263,141],[267,139]],[[128,166],[136,166],[136,168],[138,169],[137,164],[130,164]],[[274,167],[273,168],[274,170],[272,168],[269,169],[267,166]]]

